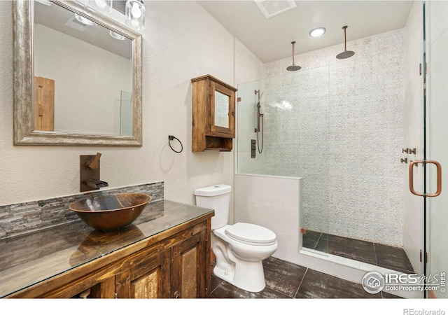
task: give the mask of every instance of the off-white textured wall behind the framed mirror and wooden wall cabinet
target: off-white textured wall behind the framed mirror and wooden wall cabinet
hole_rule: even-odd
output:
[[[12,2],[0,1],[1,25],[10,26],[0,29],[1,205],[78,193],[79,155],[97,152],[102,180],[113,188],[165,181],[165,198],[195,204],[195,188],[233,185],[233,151],[191,152],[190,79],[209,73],[235,85],[237,77],[257,78],[260,62],[242,45],[235,50],[234,36],[197,2],[145,4],[143,146],[52,147],[13,146]],[[244,71],[235,71],[241,64]],[[182,141],[182,153],[171,151],[169,134]]]

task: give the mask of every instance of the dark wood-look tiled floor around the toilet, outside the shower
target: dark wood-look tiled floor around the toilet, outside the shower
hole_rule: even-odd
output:
[[[212,266],[214,267],[214,266]],[[400,298],[380,292],[367,293],[363,286],[336,276],[295,265],[278,258],[263,260],[266,287],[251,293],[211,274],[211,298],[290,299],[290,298]],[[213,269],[213,268],[212,268]]]

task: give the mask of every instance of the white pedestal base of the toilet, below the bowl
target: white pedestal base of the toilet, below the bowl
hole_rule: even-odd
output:
[[[235,258],[235,260],[239,260]],[[213,272],[218,278],[248,292],[260,292],[266,286],[265,272],[261,261],[237,261],[230,268],[219,267],[216,264]]]

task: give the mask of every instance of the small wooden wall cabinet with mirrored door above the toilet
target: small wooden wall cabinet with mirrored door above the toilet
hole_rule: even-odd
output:
[[[192,151],[232,151],[237,89],[213,76],[191,79]]]

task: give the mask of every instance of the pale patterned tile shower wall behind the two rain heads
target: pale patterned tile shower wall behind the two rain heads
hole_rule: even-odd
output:
[[[265,172],[303,177],[309,230],[402,246],[403,30],[266,64]]]

